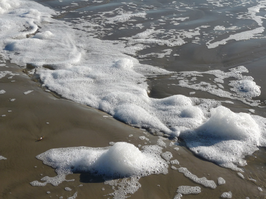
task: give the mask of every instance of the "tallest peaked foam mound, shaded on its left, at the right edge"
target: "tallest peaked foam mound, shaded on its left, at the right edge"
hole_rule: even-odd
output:
[[[211,109],[208,121],[181,137],[195,154],[238,171],[242,171],[238,166],[247,164],[244,157],[264,145],[261,129],[250,114],[234,113],[224,106]]]

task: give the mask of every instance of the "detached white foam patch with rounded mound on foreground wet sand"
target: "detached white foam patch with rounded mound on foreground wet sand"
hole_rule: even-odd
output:
[[[166,174],[168,165],[160,154],[159,146],[146,146],[143,151],[126,142],[117,142],[112,147],[73,147],[50,149],[38,156],[44,164],[56,169],[57,177],[44,177],[45,184],[58,185],[66,174],[89,172],[92,175],[111,178]],[[36,181],[32,186],[44,186]]]

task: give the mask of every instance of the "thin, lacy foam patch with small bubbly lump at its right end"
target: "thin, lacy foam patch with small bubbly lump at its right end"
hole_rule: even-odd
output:
[[[205,91],[218,97],[240,100],[252,106],[258,106],[261,103],[260,100],[252,100],[252,98],[260,96],[261,90],[260,87],[253,81],[254,79],[251,76],[242,75],[242,73],[248,72],[249,71],[247,68],[245,68],[244,66],[239,66],[233,69],[229,69],[229,72],[223,72],[220,70],[211,70],[206,72],[181,72],[173,78],[182,79],[177,85],[180,87]],[[214,78],[215,84],[203,81],[201,81],[200,83],[195,83],[195,76],[201,78],[204,77],[205,74],[214,75],[216,77]],[[194,78],[189,80],[191,76],[194,76]],[[236,79],[234,81],[230,81],[229,86],[233,87],[230,89],[230,91],[225,90],[224,86],[226,85],[222,85],[224,84],[224,80],[227,78]]]

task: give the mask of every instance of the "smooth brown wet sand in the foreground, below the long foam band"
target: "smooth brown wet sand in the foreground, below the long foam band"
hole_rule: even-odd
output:
[[[67,199],[77,192],[77,199],[112,198],[104,195],[112,193],[111,187],[104,185],[101,179],[95,179],[88,174],[72,174],[66,179],[75,179],[73,182],[63,182],[57,187],[47,184],[44,187],[32,187],[29,183],[40,180],[44,176],[56,176],[54,169],[43,165],[36,155],[52,148],[61,147],[106,147],[109,142],[127,141],[145,145],[138,137],[143,136],[140,129],[130,127],[113,118],[104,118],[104,112],[95,110],[75,102],[57,99],[53,95],[38,87],[22,70],[13,64],[8,68],[0,67],[0,71],[12,71],[19,76],[7,79],[9,75],[0,79],[0,90],[6,93],[0,95],[0,155],[7,160],[0,160],[0,199]],[[15,82],[10,82],[15,81]],[[29,90],[33,92],[24,95]],[[9,99],[15,99],[11,102]],[[12,110],[11,112],[7,112]],[[49,122],[48,124],[46,122]],[[132,137],[128,135],[133,134]],[[44,136],[40,142],[35,142]],[[146,135],[150,143],[156,144],[158,137]],[[173,154],[171,160],[177,159],[181,167],[186,167],[199,178],[206,177],[214,180],[222,177],[225,185],[215,190],[205,188],[184,177],[184,174],[171,169],[167,175],[151,175],[139,180],[141,188],[131,196],[132,199],[173,199],[179,186],[199,186],[202,193],[183,196],[182,199],[219,199],[224,192],[231,191],[233,198],[266,198],[266,189],[263,192],[258,187],[265,187],[265,153],[262,149],[255,152],[258,158],[248,157],[249,165],[245,167],[244,176],[252,177],[257,183],[243,180],[237,172],[221,168],[211,162],[195,157],[185,147],[169,146]],[[260,159],[261,158],[261,159]],[[258,161],[259,160],[259,161]],[[180,166],[174,165],[177,168]],[[258,168],[258,169],[257,169]],[[78,187],[83,185],[82,187]],[[159,186],[158,186],[159,185]],[[65,191],[69,187],[72,191]],[[104,188],[104,191],[101,189]],[[47,194],[46,192],[50,192]]]

